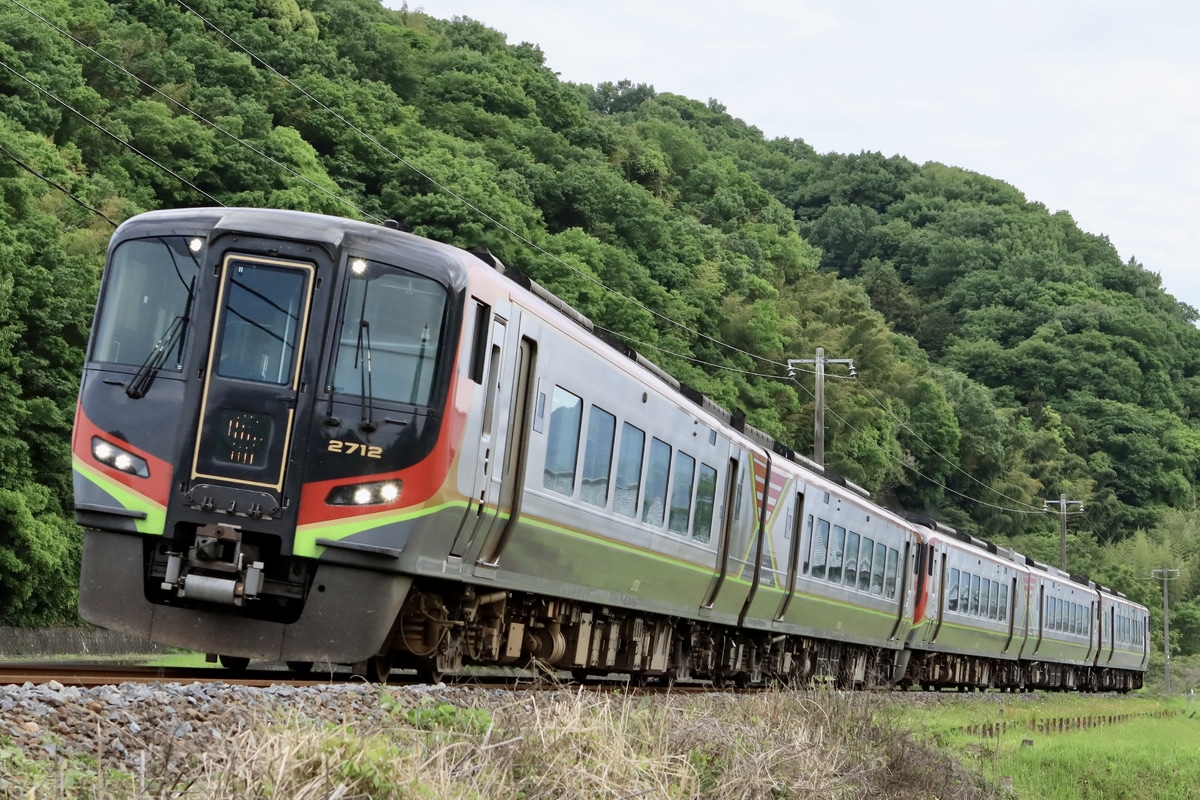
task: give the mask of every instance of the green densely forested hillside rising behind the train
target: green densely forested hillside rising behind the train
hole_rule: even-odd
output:
[[[715,101],[560,82],[533,44],[376,0],[0,6],[0,621],[71,619],[77,373],[113,225],[268,205],[484,246],[888,503],[1154,608],[1200,650],[1200,332],[1019,188],[766,139]],[[752,121],[750,121],[752,122]],[[797,132],[803,134],[803,131]],[[1151,265],[1152,267],[1152,265]],[[1187,601],[1187,602],[1183,602]],[[1181,638],[1184,638],[1181,637]]]

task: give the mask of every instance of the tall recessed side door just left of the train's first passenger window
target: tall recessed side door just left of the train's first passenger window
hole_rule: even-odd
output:
[[[493,433],[488,476],[485,481],[484,501],[488,507],[486,524],[480,524],[475,540],[480,542],[475,571],[487,576],[486,567],[494,567],[504,549],[504,543],[521,517],[521,493],[524,483],[526,450],[529,445],[529,411],[533,401],[532,384],[536,366],[538,348],[534,341],[522,333],[514,353],[512,369],[503,371],[498,395],[506,396],[505,410],[497,401],[496,421],[504,421],[504,428]],[[481,506],[482,507],[482,506]],[[482,517],[481,517],[482,521]]]

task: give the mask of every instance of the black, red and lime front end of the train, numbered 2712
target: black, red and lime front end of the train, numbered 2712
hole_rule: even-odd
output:
[[[366,287],[378,296],[425,270],[456,296],[452,259],[400,236],[218,209],[118,230],[73,437],[84,619],[238,658],[346,663],[378,650],[410,583],[396,567],[403,527],[378,512],[439,486],[428,467],[450,366],[436,356],[458,323],[446,300],[425,325],[413,348],[434,349],[412,396],[372,381],[364,336],[386,357],[386,320],[404,315],[377,309],[371,331],[364,314],[379,303]]]

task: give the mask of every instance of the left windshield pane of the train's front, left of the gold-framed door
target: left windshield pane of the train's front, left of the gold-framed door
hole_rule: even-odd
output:
[[[163,348],[174,327],[176,341],[156,368],[179,372],[191,287],[199,272],[186,236],[122,242],[113,252],[97,312],[92,361],[142,367]],[[179,347],[174,347],[178,344]]]

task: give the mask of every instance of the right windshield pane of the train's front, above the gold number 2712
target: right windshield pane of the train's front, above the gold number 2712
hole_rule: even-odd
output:
[[[436,281],[365,263],[346,293],[334,391],[371,402],[428,405],[445,305],[446,290]]]

